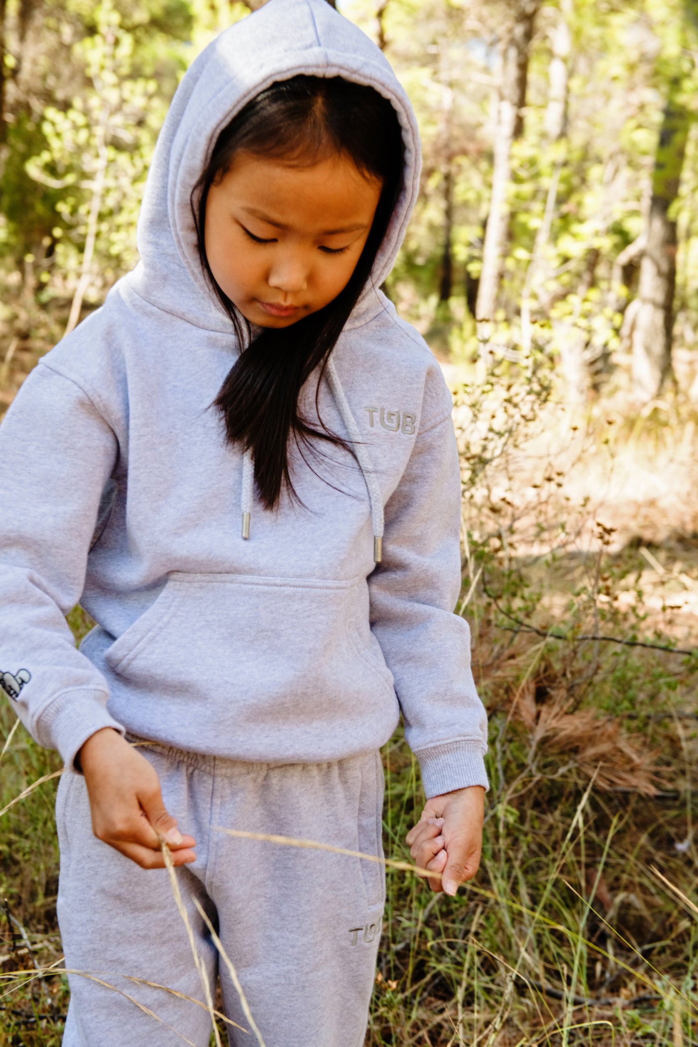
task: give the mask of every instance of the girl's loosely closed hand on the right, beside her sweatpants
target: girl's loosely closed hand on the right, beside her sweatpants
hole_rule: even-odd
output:
[[[409,853],[429,872],[432,891],[455,894],[477,872],[482,850],[485,789],[481,785],[458,788],[427,800],[422,817],[407,833]]]

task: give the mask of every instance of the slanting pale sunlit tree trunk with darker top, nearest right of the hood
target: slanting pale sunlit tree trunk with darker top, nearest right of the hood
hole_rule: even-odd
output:
[[[489,362],[490,359],[488,342],[491,336],[491,321],[497,305],[509,231],[510,208],[506,195],[511,181],[512,143],[523,132],[528,51],[539,6],[540,0],[516,0],[514,25],[503,54],[490,213],[482,247],[482,270],[475,306],[477,340],[480,346],[480,356],[486,362]]]

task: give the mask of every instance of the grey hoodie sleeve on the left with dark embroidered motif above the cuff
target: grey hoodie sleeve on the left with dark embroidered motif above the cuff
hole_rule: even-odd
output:
[[[0,686],[67,766],[105,727],[107,682],[65,620],[78,602],[113,430],[71,379],[40,363],[0,426]]]

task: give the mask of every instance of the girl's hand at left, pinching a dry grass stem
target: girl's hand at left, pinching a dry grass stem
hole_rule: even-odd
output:
[[[98,840],[132,859],[142,869],[163,869],[160,841],[174,865],[196,862],[196,841],[184,837],[165,810],[160,780],[144,756],[112,728],[87,739],[77,754]]]

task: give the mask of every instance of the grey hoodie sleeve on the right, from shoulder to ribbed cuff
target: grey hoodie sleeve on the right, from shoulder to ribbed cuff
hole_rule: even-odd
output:
[[[451,397],[438,379],[440,413],[420,429],[387,502],[383,561],[368,579],[371,628],[395,677],[427,798],[488,787],[487,714],[470,666],[470,629],[453,614],[460,589],[460,471]]]

